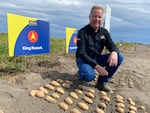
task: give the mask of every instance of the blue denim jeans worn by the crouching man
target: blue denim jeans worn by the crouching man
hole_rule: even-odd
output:
[[[110,67],[107,63],[108,57],[110,54],[101,55],[99,58],[95,59],[97,63],[103,67],[106,67],[108,71],[108,76],[99,76],[98,81],[101,83],[107,83],[108,80],[113,76],[116,72],[120,64],[123,62],[123,55],[118,53],[118,64],[117,66]],[[79,68],[78,76],[80,79],[86,82],[90,82],[95,78],[94,69],[87,63],[85,63],[81,58],[76,58],[76,63]]]

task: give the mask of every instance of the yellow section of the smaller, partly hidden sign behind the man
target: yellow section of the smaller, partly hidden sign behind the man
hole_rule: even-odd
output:
[[[71,40],[71,36],[73,35],[73,33],[76,31],[75,28],[69,28],[66,27],[66,53],[68,53],[68,49],[69,49],[69,42]]]

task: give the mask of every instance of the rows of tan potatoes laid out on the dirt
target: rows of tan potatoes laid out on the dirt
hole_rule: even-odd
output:
[[[31,90],[29,95],[33,97],[44,98],[46,101],[57,104],[60,109],[64,111],[68,110],[70,113],[82,113],[86,111],[91,111],[92,113],[108,113],[108,106],[112,104],[114,106],[114,112],[116,113],[147,113],[143,105],[137,106],[131,98],[125,99],[123,96],[118,94],[114,94],[112,96],[112,94],[104,91],[98,91],[95,88],[84,88],[82,85],[79,85],[70,92],[65,91],[72,86],[73,82],[69,80],[51,80],[50,83]],[[62,95],[65,93],[67,96],[63,97]],[[57,101],[61,97],[63,97],[61,102]],[[94,108],[91,110],[90,108],[92,107],[93,103]],[[72,106],[73,104],[75,107]]]

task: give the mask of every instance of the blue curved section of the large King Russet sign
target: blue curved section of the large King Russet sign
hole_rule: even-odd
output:
[[[37,20],[34,26],[27,25],[15,44],[14,56],[50,52],[49,23]]]

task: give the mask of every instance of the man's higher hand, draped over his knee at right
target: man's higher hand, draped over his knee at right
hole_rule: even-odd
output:
[[[118,54],[117,52],[113,51],[111,52],[107,62],[109,63],[109,66],[117,66],[118,64]]]

